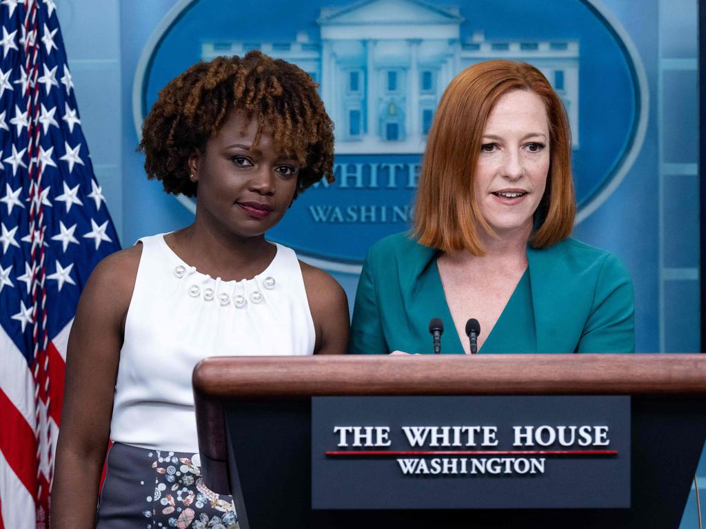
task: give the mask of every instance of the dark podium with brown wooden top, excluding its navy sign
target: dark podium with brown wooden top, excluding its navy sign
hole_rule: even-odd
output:
[[[706,438],[706,356],[218,357],[193,372],[206,485],[242,529],[677,528]],[[312,396],[629,395],[629,509],[311,509]]]

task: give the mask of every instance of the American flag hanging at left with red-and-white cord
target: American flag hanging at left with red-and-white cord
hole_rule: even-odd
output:
[[[66,341],[119,249],[52,0],[1,0],[0,529],[48,526]]]

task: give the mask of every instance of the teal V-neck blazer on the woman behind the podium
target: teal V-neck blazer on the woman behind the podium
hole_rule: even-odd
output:
[[[441,352],[464,352],[438,254],[407,233],[373,245],[358,284],[349,353],[432,353],[433,317],[445,323]],[[527,262],[480,353],[635,352],[633,285],[615,255],[569,238],[542,250],[528,246]]]

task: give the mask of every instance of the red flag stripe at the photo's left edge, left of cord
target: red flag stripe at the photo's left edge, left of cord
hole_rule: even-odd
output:
[[[18,479],[30,492],[37,494],[37,444],[35,432],[22,414],[0,389],[0,450]]]

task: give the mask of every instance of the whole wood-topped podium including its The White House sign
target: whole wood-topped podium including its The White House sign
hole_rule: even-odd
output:
[[[706,437],[705,355],[220,357],[193,387],[203,482],[242,529],[677,527]],[[571,451],[560,426],[611,453],[499,454]],[[326,456],[363,450],[385,454]]]

